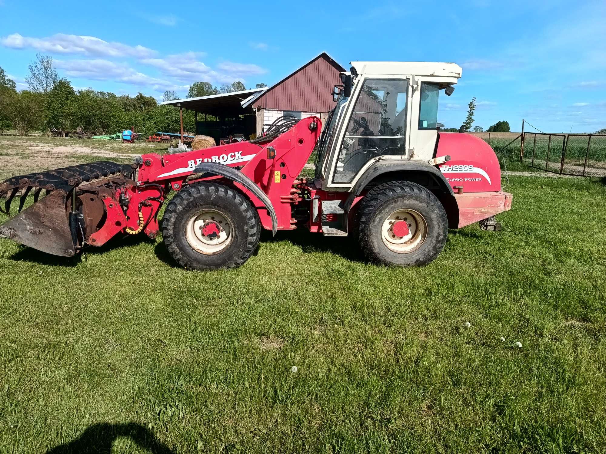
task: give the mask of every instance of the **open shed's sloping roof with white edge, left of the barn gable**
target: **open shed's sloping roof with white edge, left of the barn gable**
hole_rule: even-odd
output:
[[[222,117],[238,116],[248,113],[245,109],[248,104],[261,96],[267,89],[267,87],[252,88],[251,90],[231,91],[230,93],[175,99],[172,101],[164,101],[160,104],[174,105],[184,109]]]

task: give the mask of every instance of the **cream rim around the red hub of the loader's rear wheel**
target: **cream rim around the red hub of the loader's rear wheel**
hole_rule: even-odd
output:
[[[408,233],[398,236],[392,227],[396,222],[405,222]],[[381,238],[390,251],[398,254],[408,254],[419,248],[427,237],[427,222],[425,218],[413,209],[399,209],[387,216],[381,226]]]

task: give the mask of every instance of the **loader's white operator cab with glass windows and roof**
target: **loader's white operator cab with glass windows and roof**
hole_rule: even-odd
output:
[[[439,91],[450,96],[461,72],[453,63],[351,62],[319,141],[322,189],[351,189],[380,159],[434,157]]]

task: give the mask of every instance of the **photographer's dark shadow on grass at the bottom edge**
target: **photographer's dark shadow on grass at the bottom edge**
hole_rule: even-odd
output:
[[[78,439],[51,448],[46,454],[111,454],[114,442],[120,437],[130,438],[137,446],[154,454],[173,454],[150,430],[135,423],[93,424]]]

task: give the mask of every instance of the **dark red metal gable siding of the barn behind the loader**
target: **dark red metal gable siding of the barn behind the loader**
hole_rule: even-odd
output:
[[[341,84],[338,65],[320,55],[284,81],[265,91],[253,107],[301,112],[328,112],[335,103],[331,92]]]

